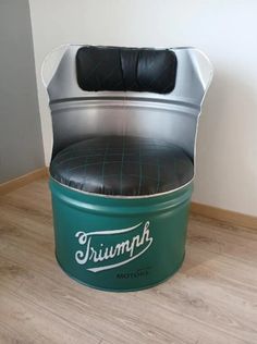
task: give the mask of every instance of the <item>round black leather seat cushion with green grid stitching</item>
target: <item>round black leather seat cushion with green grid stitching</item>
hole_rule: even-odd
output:
[[[191,158],[163,140],[103,136],[61,150],[51,176],[70,187],[102,195],[142,196],[173,191],[194,174]]]

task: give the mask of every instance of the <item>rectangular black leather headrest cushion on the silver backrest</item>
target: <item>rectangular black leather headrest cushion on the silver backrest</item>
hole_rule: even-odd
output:
[[[168,94],[174,89],[176,57],[168,49],[82,47],[76,54],[83,90],[133,90]]]

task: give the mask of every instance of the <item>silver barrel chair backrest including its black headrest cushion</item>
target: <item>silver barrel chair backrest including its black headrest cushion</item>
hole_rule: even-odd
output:
[[[42,67],[52,114],[52,157],[87,137],[131,135],[171,142],[194,159],[211,77],[209,60],[195,48],[69,45],[54,50]]]

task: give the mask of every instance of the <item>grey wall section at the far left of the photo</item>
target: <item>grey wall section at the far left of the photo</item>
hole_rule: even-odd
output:
[[[45,164],[28,0],[0,1],[0,47],[1,184]]]

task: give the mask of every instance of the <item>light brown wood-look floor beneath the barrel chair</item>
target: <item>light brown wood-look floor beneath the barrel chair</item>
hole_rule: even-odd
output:
[[[0,198],[0,344],[257,343],[257,230],[193,217],[179,273],[105,293],[58,267],[49,196],[41,180]]]

